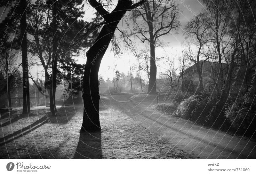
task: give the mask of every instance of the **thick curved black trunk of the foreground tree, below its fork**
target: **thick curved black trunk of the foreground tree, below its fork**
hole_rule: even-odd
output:
[[[114,35],[116,26],[126,11],[119,11],[111,21],[106,23],[97,37],[95,43],[86,53],[86,64],[84,70],[84,116],[81,131],[100,130],[99,115],[99,82],[98,72],[100,62]]]

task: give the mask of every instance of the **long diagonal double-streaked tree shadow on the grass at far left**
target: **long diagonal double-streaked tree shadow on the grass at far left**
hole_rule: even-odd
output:
[[[25,128],[22,128],[18,131],[14,131],[9,135],[4,136],[3,138],[0,138],[0,142],[2,142],[2,143],[0,143],[0,146],[5,145],[15,139],[23,137],[24,135],[36,130],[37,128],[41,127],[45,123],[48,123],[48,120],[49,120],[48,115],[44,115],[42,118],[40,118],[36,122],[26,126]]]

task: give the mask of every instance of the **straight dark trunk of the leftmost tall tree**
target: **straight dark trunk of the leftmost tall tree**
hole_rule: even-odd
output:
[[[26,0],[21,0],[21,59],[22,59],[22,76],[23,76],[23,110],[22,114],[30,113],[29,101],[29,82],[28,82],[28,51],[27,51],[27,33],[26,33]]]

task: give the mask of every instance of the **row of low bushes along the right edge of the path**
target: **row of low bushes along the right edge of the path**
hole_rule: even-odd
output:
[[[186,95],[177,92],[179,95],[173,97],[174,94],[170,94],[170,103],[161,103],[155,108],[222,131],[248,136],[255,131],[256,102],[249,95],[226,100],[223,94]],[[183,97],[186,98],[182,100]]]

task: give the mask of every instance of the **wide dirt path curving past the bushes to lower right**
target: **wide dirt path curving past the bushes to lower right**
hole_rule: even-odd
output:
[[[120,111],[127,113],[138,125],[161,135],[189,156],[200,159],[255,159],[256,142],[222,131],[195,125],[187,120],[162,114],[152,109],[156,102],[131,100],[132,95],[112,95]]]

